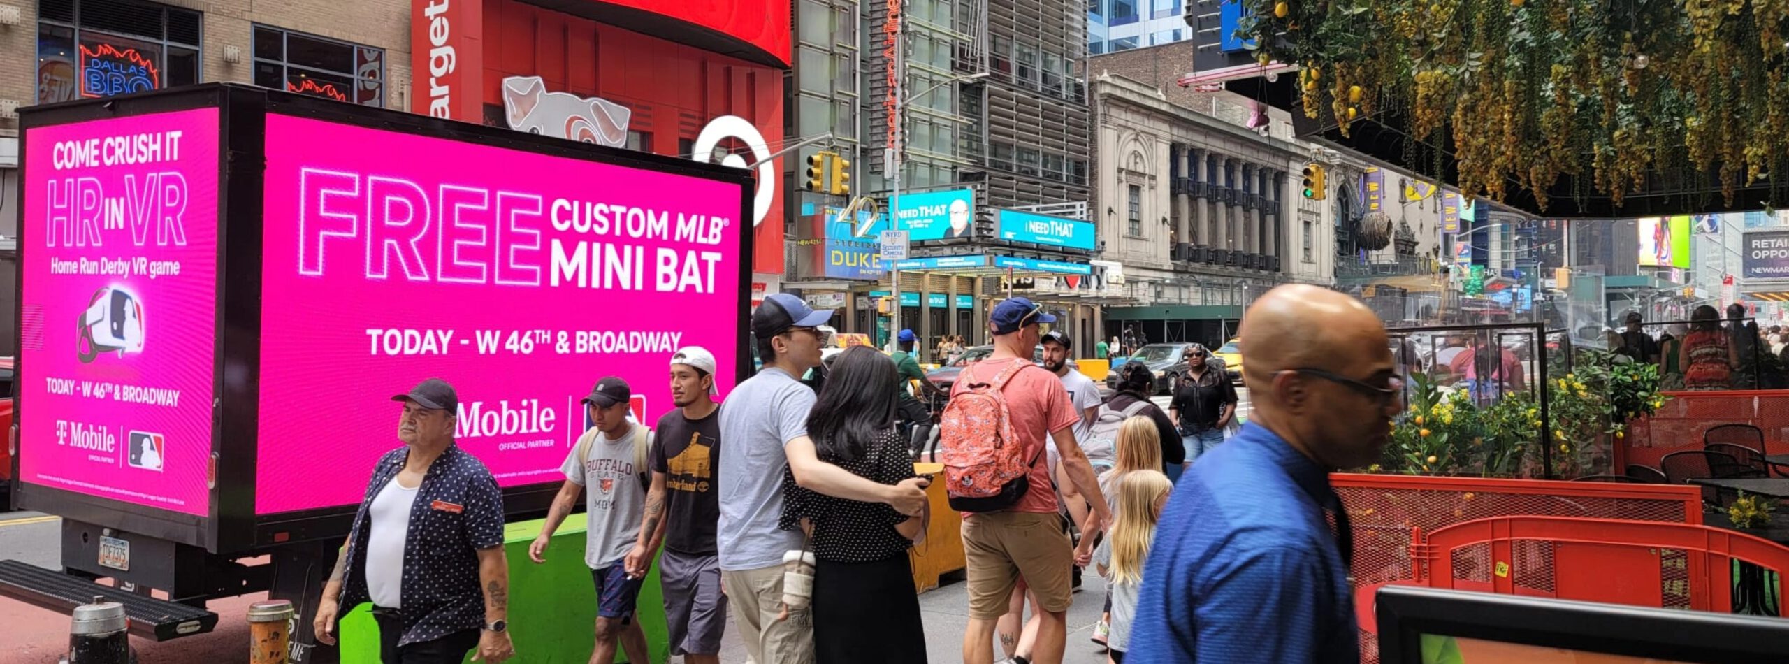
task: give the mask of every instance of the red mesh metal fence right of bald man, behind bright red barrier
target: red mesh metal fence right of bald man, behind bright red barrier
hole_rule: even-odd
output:
[[[1331,474],[1329,483],[1342,496],[1354,530],[1352,585],[1365,664],[1379,660],[1372,596],[1386,583],[1417,583],[1417,560],[1426,555],[1420,544],[1413,551],[1412,544],[1419,533],[1508,515],[1701,524],[1701,489],[1687,485],[1347,472]],[[1483,582],[1485,589],[1490,589],[1496,569],[1488,544],[1462,548],[1449,555],[1456,557],[1454,569],[1467,575],[1465,582]],[[1553,551],[1546,546],[1524,546],[1515,553],[1513,566],[1521,578],[1555,576]],[[1531,591],[1531,594],[1556,592],[1544,583]],[[1687,600],[1683,607],[1689,607]]]

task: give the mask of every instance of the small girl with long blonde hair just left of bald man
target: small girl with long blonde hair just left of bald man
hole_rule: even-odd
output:
[[[1111,664],[1123,664],[1123,653],[1131,646],[1131,621],[1136,616],[1138,591],[1143,587],[1143,562],[1149,560],[1156,521],[1172,489],[1174,483],[1161,471],[1134,471],[1118,481],[1115,517],[1118,523],[1093,555],[1111,591],[1111,632],[1106,637]]]

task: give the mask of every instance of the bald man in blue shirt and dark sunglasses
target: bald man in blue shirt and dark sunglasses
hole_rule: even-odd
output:
[[[1385,326],[1349,295],[1279,286],[1249,308],[1242,345],[1252,421],[1168,499],[1125,664],[1360,662],[1329,472],[1378,462],[1403,408]]]

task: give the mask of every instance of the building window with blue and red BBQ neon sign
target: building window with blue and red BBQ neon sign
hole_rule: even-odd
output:
[[[202,14],[136,0],[38,4],[38,104],[199,82]]]

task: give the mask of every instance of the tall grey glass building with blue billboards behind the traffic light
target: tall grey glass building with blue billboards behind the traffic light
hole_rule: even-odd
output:
[[[1084,328],[1091,353],[1100,297],[1091,285],[1104,272],[1090,261],[1097,220],[1086,215],[1093,147],[1082,9],[1066,0],[794,2],[789,136],[830,131],[832,140],[785,161],[796,193],[784,290],[841,310],[843,331],[878,342],[898,308],[900,328],[928,347],[946,335],[986,342],[988,306],[1023,294]],[[850,193],[805,190],[809,157],[821,152],[844,159]],[[873,202],[841,218],[855,197]],[[959,200],[961,231],[914,226]],[[1039,238],[1023,234],[1020,218],[1086,233],[1023,242]],[[1002,220],[1013,224],[1007,236]],[[886,229],[909,231],[918,261],[900,270],[898,301],[877,242]]]

